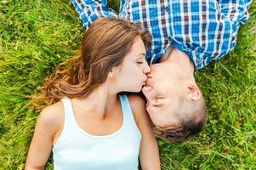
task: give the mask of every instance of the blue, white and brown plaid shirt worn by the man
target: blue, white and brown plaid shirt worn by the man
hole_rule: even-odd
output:
[[[100,17],[120,17],[145,27],[152,36],[146,54],[150,64],[172,45],[200,69],[235,48],[237,31],[248,20],[252,0],[121,0],[119,14],[106,0],[72,3],[87,28]]]

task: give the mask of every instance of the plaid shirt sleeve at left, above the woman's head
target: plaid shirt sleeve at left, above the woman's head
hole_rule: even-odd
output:
[[[117,13],[108,7],[106,0],[71,0],[77,14],[82,20],[82,26],[86,29],[102,17],[117,17]]]

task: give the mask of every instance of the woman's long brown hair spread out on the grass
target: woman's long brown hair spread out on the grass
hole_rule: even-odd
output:
[[[128,20],[102,18],[94,21],[82,39],[80,54],[66,59],[47,77],[39,93],[43,95],[43,103],[51,105],[65,96],[86,97],[105,82],[111,68],[122,63],[138,36],[147,48],[150,34]]]

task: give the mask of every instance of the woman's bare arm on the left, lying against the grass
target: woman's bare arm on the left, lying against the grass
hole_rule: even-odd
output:
[[[26,158],[26,170],[44,169],[52,150],[54,135],[64,119],[61,120],[60,110],[63,110],[60,103],[50,105],[43,109],[37,118],[34,136]]]

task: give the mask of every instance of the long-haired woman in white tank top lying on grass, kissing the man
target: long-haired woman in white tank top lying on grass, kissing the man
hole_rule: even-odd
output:
[[[49,105],[37,119],[26,169],[160,169],[156,138],[138,96],[150,67],[148,34],[120,19],[94,21],[81,53],[45,84]]]

